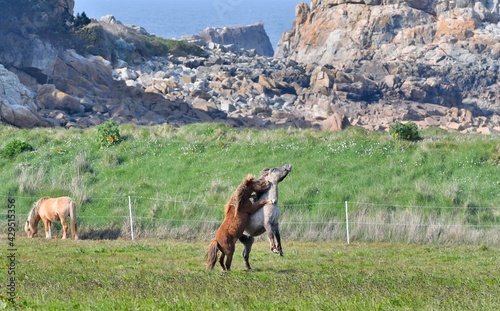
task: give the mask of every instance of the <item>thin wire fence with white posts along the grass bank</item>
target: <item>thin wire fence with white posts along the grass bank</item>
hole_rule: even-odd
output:
[[[38,198],[24,196],[14,199],[23,202],[23,206],[15,211],[17,230],[22,231],[29,209]],[[102,212],[97,215],[84,207],[77,210],[79,236],[84,239],[154,237],[209,240],[223,218],[220,205],[210,205],[201,200],[142,196],[91,200],[94,203],[111,201],[115,207],[106,215]],[[280,231],[284,240],[500,244],[500,206],[282,202]],[[2,233],[8,228],[8,215],[0,213]],[[60,225],[56,223],[54,227],[53,231],[57,234]],[[43,229],[39,231],[43,232]],[[265,239],[265,235],[260,238]]]

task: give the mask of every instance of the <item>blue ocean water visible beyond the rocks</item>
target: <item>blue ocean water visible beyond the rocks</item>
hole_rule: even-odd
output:
[[[207,27],[264,23],[274,48],[292,28],[300,0],[76,0],[75,15],[99,19],[113,15],[124,24],[174,39],[198,34]]]

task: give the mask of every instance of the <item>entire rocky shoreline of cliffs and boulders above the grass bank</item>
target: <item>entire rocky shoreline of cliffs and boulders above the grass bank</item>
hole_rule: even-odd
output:
[[[112,16],[82,26],[73,4],[0,0],[0,122],[500,131],[496,2],[300,4],[274,58],[241,49],[261,44],[245,27],[172,41]]]

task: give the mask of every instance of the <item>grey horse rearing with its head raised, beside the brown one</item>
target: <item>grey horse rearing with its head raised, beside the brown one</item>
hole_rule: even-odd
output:
[[[272,203],[264,205],[262,209],[258,210],[250,217],[250,221],[245,228],[245,232],[240,237],[240,242],[245,246],[243,250],[243,258],[245,259],[247,269],[251,269],[248,259],[250,257],[250,251],[252,250],[252,244],[255,240],[254,237],[261,235],[265,231],[267,231],[267,238],[269,240],[271,251],[283,256],[278,223],[280,218],[280,210],[278,207],[278,183],[285,179],[291,171],[292,165],[285,164],[275,168],[266,168],[261,172],[260,179],[270,182],[271,188],[257,196],[255,202],[270,200]],[[275,237],[277,244],[274,243]]]

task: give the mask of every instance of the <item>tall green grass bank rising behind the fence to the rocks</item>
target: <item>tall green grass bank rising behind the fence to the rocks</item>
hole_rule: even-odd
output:
[[[279,189],[289,237],[343,239],[340,224],[348,201],[357,241],[378,236],[379,241],[499,242],[498,135],[433,129],[409,142],[354,128],[257,131],[194,124],[119,130],[122,141],[101,148],[95,128],[1,126],[0,150],[14,139],[35,150],[0,158],[0,195],[16,199],[18,218],[40,197],[69,195],[77,201],[87,238],[104,237],[103,232],[127,236],[131,196],[137,235],[209,239],[223,218],[223,205],[248,173],[291,163],[293,171]],[[415,228],[402,226],[408,223],[423,229],[411,234]],[[402,229],[374,235],[367,231],[374,224]],[[438,228],[423,226],[428,224]],[[464,227],[457,233],[450,225]]]

